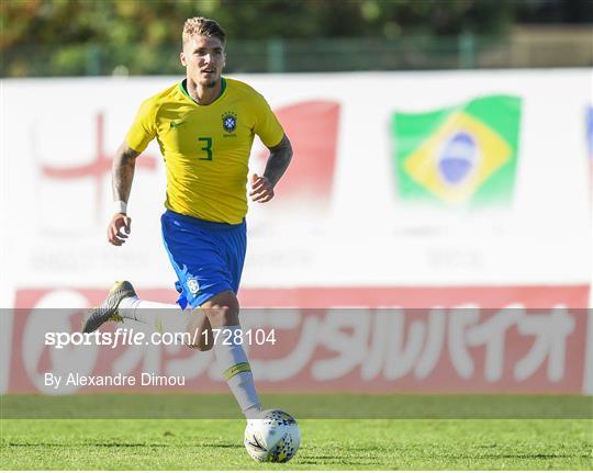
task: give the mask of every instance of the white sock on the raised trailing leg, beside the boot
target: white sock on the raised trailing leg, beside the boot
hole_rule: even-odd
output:
[[[188,315],[177,304],[143,301],[138,297],[124,297],[118,306],[118,314],[128,320],[148,324],[155,330],[184,333]]]

